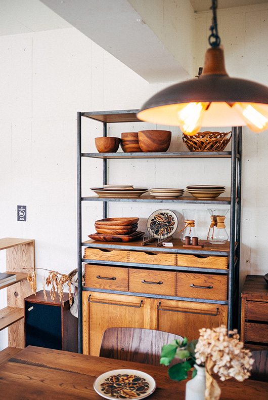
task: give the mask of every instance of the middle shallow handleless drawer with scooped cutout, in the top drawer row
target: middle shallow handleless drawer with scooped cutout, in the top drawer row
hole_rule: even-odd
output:
[[[155,265],[176,265],[176,255],[153,252],[129,252],[129,262]]]

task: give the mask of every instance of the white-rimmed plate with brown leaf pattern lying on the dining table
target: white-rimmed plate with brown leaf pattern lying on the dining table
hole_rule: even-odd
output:
[[[100,375],[94,389],[104,398],[145,398],[152,394],[156,383],[151,375],[137,370],[113,370]]]

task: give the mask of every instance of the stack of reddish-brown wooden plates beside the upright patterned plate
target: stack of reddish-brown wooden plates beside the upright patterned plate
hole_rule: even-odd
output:
[[[104,218],[95,222],[96,233],[88,235],[95,241],[132,242],[144,232],[138,229],[139,218]]]

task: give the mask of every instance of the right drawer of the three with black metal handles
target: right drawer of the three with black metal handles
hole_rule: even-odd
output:
[[[178,297],[227,300],[227,276],[176,272]]]

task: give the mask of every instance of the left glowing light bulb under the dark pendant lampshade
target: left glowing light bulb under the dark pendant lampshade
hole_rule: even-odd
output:
[[[178,123],[183,133],[189,136],[199,132],[205,110],[209,103],[187,103],[177,110]]]

